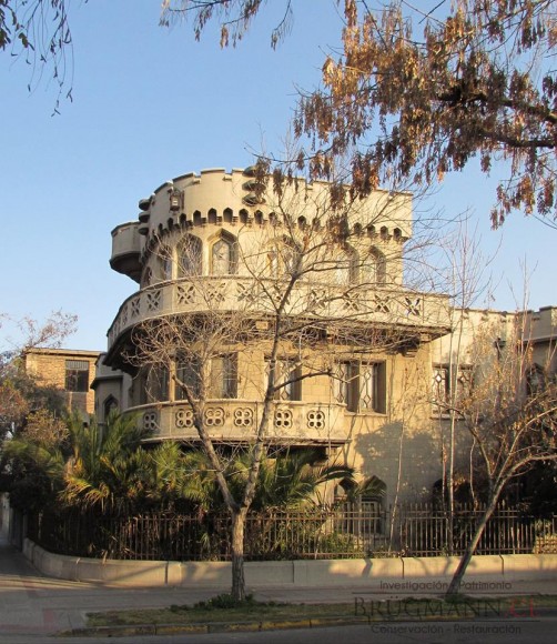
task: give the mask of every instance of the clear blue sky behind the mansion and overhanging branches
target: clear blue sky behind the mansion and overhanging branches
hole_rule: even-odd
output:
[[[2,224],[0,312],[41,320],[62,309],[79,316],[72,349],[107,346],[105,332],[136,285],[111,271],[111,230],[138,217],[138,201],[161,183],[205,168],[242,168],[252,150],[280,151],[296,87],[313,88],[323,52],[340,40],[333,0],[295,4],[291,36],[276,50],[270,2],[237,49],[207,32],[159,27],[158,0],[74,1],[73,103],[51,117],[55,88],[30,94],[24,61],[0,57]],[[431,208],[472,209],[500,284],[493,306],[514,310],[521,264],[534,271],[529,305],[557,304],[557,232],[515,214],[489,229],[493,194],[476,172],[450,178]],[[0,348],[6,335],[0,330]]]

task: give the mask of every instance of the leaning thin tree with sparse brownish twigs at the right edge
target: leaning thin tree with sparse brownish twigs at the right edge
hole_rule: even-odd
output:
[[[484,482],[482,512],[447,594],[458,592],[467,565],[510,481],[538,462],[557,461],[557,383],[549,371],[553,354],[534,361],[528,312],[504,326],[485,324],[472,345],[474,384],[452,399],[473,440],[477,477]]]

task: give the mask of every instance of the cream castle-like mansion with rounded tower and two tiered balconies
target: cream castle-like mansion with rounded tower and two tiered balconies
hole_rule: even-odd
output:
[[[101,421],[133,412],[151,440],[189,449],[200,424],[229,449],[256,435],[269,449],[317,446],[383,480],[387,501],[431,493],[446,464],[436,400],[454,382],[455,312],[403,282],[409,194],[376,191],[333,210],[324,183],[276,190],[254,169],[206,170],[139,205],[112,231],[111,266],[139,288],[98,364]],[[456,375],[467,386],[475,329],[489,322],[496,348],[514,315],[459,315]],[[545,356],[557,310],[528,315]]]

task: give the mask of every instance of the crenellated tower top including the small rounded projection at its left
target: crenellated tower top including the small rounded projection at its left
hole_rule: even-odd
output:
[[[402,244],[412,235],[412,197],[407,193],[375,191],[338,213],[330,207],[326,182],[296,180],[278,195],[255,177],[253,168],[182,174],[140,200],[139,208],[138,222],[112,232],[110,261],[115,271],[134,281],[140,281],[161,242],[176,231],[207,237],[207,229],[217,227],[237,235],[239,229],[272,225],[280,234],[281,227],[326,228],[338,217],[344,218],[350,238],[368,239],[378,253],[388,254],[393,279],[402,281]]]

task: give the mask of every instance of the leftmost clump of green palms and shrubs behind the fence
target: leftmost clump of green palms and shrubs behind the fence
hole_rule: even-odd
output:
[[[100,425],[93,416],[83,423],[74,412],[65,425],[63,440],[47,441],[23,432],[6,445],[10,492],[22,507],[60,506],[62,502],[69,507],[135,511],[156,502],[164,490],[156,480],[164,450],[161,446],[151,453],[142,446],[149,432],[138,427],[133,416],[112,413]],[[166,455],[168,466],[171,456],[178,460],[175,450]],[[166,492],[165,499],[170,495]]]

